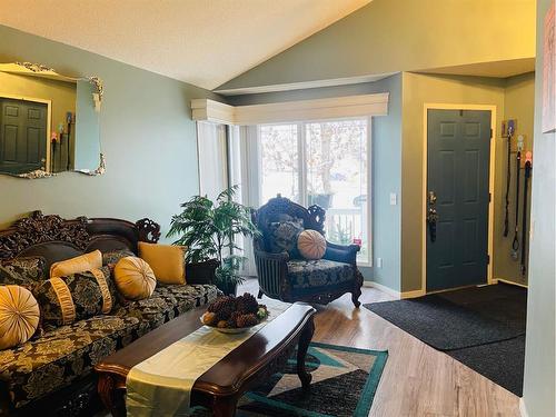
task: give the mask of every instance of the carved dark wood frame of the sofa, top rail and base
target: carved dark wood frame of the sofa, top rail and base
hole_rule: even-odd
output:
[[[137,254],[139,241],[155,244],[160,226],[143,218],[136,224],[112,218],[79,217],[66,220],[57,215],[33,211],[0,230],[0,260],[23,256],[42,256],[47,266],[100,249],[130,249]],[[11,409],[8,389],[0,381],[0,416],[86,416],[101,409],[95,373],[81,380],[33,401],[21,409]]]

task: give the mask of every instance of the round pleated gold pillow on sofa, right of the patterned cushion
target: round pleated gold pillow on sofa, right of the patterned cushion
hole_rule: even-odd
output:
[[[155,272],[141,258],[121,258],[113,269],[116,287],[128,300],[149,298],[157,286]]]

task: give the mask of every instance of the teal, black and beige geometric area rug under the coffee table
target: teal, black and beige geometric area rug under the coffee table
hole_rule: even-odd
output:
[[[308,393],[291,358],[282,373],[241,397],[236,416],[366,417],[387,358],[387,351],[311,342],[306,358],[312,375]]]

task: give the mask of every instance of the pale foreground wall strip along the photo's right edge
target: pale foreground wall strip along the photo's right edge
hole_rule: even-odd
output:
[[[537,2],[537,63],[535,80],[535,143],[533,148],[533,202],[527,299],[527,338],[523,401],[530,417],[556,415],[555,351],[555,180],[556,135],[542,132],[543,24],[554,0]],[[556,40],[555,40],[556,41]],[[556,62],[553,62],[553,69]],[[554,78],[553,78],[554,80]]]

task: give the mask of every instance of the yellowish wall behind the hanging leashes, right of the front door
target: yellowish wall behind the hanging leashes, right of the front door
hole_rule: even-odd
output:
[[[533,125],[534,125],[534,107],[535,107],[535,73],[525,73],[517,77],[512,77],[506,80],[505,96],[504,96],[504,120],[516,119],[517,129],[516,136],[513,141],[514,146],[517,142],[517,136],[523,135],[525,139],[525,151],[533,150]],[[505,193],[506,193],[506,149],[507,141],[500,138],[498,131],[498,142],[503,142],[502,153],[498,155],[502,159],[502,170],[497,171],[499,181],[497,186],[502,187],[502,198],[496,200],[496,234],[494,236],[494,277],[509,280],[513,282],[526,285],[527,274],[522,276],[520,261],[512,258],[512,241],[514,240],[514,226],[515,226],[515,195],[516,195],[516,169],[515,169],[515,153],[512,153],[512,176],[509,187],[509,225],[510,231],[508,237],[503,235],[504,212],[505,212]],[[525,151],[522,152],[522,161],[525,161]],[[524,162],[525,163],[525,162]],[[524,170],[520,171],[520,191],[519,198],[523,199],[524,187]],[[527,212],[530,214],[530,181],[529,181],[529,198]],[[519,234],[522,234],[522,214],[523,202],[519,205]],[[527,228],[528,229],[528,228]],[[519,235],[519,241],[523,245],[523,235]],[[522,246],[523,247],[523,246]]]

